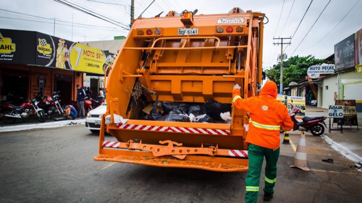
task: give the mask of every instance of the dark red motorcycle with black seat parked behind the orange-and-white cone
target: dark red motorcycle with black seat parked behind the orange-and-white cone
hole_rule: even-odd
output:
[[[325,116],[304,116],[302,121],[298,121],[295,119],[295,114],[302,113],[299,108],[291,105],[292,111],[290,112],[290,117],[294,122],[293,130],[304,130],[307,132],[311,132],[315,136],[323,135],[324,126],[327,128],[324,120],[327,119]],[[304,109],[303,109],[304,110]],[[324,124],[324,126],[322,125]]]

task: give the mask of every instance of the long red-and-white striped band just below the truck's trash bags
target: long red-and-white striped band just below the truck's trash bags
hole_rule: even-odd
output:
[[[210,135],[230,135],[230,130],[209,129],[209,128],[183,128],[174,126],[153,126],[153,125],[133,125],[118,124],[117,128],[129,130],[148,130],[174,133],[194,133],[194,134],[210,134]]]

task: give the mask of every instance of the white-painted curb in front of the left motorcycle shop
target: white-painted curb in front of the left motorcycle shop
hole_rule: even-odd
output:
[[[43,129],[43,128],[58,128],[65,125],[71,124],[84,124],[85,119],[80,120],[66,120],[66,121],[54,121],[41,124],[28,124],[28,125],[13,125],[13,126],[3,126],[0,127],[0,132],[12,132],[20,130],[33,130],[33,129]]]

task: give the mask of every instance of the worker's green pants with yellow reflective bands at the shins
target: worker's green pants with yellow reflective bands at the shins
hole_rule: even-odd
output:
[[[273,150],[265,147],[260,147],[255,144],[249,145],[249,172],[246,178],[245,202],[257,202],[260,173],[265,156],[265,186],[264,192],[273,194],[274,185],[277,180],[277,162],[279,158],[280,148]]]

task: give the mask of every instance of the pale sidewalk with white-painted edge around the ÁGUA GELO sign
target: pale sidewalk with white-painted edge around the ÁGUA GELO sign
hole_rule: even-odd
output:
[[[306,107],[306,115],[323,115],[328,116],[328,109],[317,108],[313,106]],[[357,126],[343,126],[343,134],[338,130],[332,130],[328,133],[329,129],[325,129],[325,140],[331,144],[331,146],[340,151],[341,154],[346,156],[348,159],[353,161],[362,162],[362,113],[357,113],[358,127]],[[332,120],[331,120],[332,121]],[[325,120],[327,127],[329,127],[329,118]],[[334,124],[332,129],[336,129],[337,126]]]

